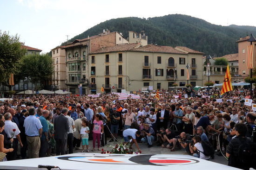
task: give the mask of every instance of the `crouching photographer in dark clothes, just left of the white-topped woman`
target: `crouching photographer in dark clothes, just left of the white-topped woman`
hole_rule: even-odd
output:
[[[182,146],[182,148],[186,150],[187,153],[191,154],[188,143],[191,140],[190,136],[191,135],[189,133],[186,134],[185,132],[182,132],[180,135],[175,136],[175,138],[172,139],[173,148],[171,149],[171,151],[175,151],[175,146],[178,143]]]

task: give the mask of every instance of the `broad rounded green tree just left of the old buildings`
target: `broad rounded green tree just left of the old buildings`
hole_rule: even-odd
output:
[[[29,78],[35,85],[40,82],[40,86],[43,86],[52,79],[53,59],[47,54],[24,56],[21,60],[21,72],[23,78]]]

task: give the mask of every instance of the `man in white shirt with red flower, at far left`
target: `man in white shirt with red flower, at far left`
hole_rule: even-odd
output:
[[[18,151],[18,142],[20,142],[20,147],[23,147],[22,142],[20,140],[20,129],[18,128],[16,123],[12,122],[13,116],[11,113],[5,113],[5,132],[7,134],[8,139],[13,138],[13,146],[10,146],[9,148],[13,148],[13,152],[7,153],[7,160],[14,160],[17,157],[17,151]]]

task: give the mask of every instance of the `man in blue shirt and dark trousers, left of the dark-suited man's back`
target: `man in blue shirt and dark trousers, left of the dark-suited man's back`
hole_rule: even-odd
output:
[[[40,116],[39,120],[43,126],[43,132],[42,132],[42,136],[40,138],[41,141],[41,147],[40,147],[40,151],[39,151],[39,157],[46,157],[46,153],[47,153],[47,148],[48,148],[48,126],[47,126],[47,121],[46,118],[49,116],[49,111],[48,110],[44,110],[43,114]]]

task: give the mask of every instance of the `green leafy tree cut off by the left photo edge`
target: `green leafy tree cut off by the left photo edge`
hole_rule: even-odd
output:
[[[20,59],[27,52],[21,48],[19,40],[17,34],[10,36],[8,32],[0,31],[0,83],[7,82],[12,73],[17,73]]]

